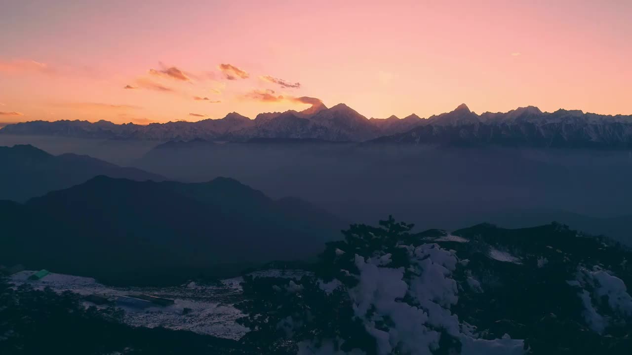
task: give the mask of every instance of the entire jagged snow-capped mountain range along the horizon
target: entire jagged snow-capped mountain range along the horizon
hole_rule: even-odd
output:
[[[232,112],[222,119],[114,124],[109,121],[32,121],[9,124],[0,133],[138,140],[228,140],[297,138],[445,145],[529,145],[537,147],[628,148],[632,115],[607,116],[579,110],[542,112],[534,106],[477,114],[465,105],[422,119],[368,119],[345,104],[305,111],[266,112],[255,119]]]

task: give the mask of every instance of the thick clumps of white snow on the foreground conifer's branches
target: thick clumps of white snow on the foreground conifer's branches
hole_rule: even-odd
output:
[[[412,274],[404,279],[404,268],[382,267],[384,258],[355,256],[360,270],[358,285],[349,289],[355,315],[362,320],[367,332],[377,343],[377,354],[393,351],[404,354],[432,354],[439,347],[443,329],[463,344],[462,354],[523,354],[523,340],[475,339],[474,330],[468,324],[459,323],[451,313],[451,306],[458,302],[458,286],[452,273],[459,263],[456,253],[442,249],[439,244],[406,246]],[[386,255],[385,255],[386,256]],[[408,274],[408,273],[407,273]],[[480,283],[471,278],[472,285]],[[482,290],[482,289],[481,289]],[[411,298],[412,304],[403,302]],[[378,326],[389,320],[387,330]],[[299,354],[338,354],[333,348],[310,348],[303,344]],[[308,351],[308,350],[313,351]]]

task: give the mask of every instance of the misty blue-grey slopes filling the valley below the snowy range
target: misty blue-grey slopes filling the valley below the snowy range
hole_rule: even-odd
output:
[[[632,193],[632,155],[626,150],[256,138],[247,143],[166,143],[134,166],[178,181],[230,176],[268,196],[304,198],[356,222],[385,214],[428,228],[482,220],[502,226],[525,226],[518,224],[521,218],[529,225],[559,220],[631,240],[626,224],[608,220],[632,214],[626,197]]]

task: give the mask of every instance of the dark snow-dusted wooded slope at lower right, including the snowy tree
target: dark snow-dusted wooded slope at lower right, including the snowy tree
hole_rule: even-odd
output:
[[[260,322],[276,324],[272,349],[290,340],[302,355],[629,350],[631,251],[559,224],[408,234],[380,223],[344,232],[313,274],[246,279],[246,324],[258,337]]]

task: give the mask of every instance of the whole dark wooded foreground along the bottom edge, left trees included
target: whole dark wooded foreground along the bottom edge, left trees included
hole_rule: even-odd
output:
[[[244,316],[237,322],[250,332],[238,340],[129,327],[120,308],[86,309],[72,292],[35,291],[29,284],[11,289],[0,277],[0,351],[629,353],[628,249],[557,223],[479,224],[451,233],[412,227],[394,219],[377,227],[355,224],[303,270],[294,263],[287,275],[244,275],[236,304]]]

